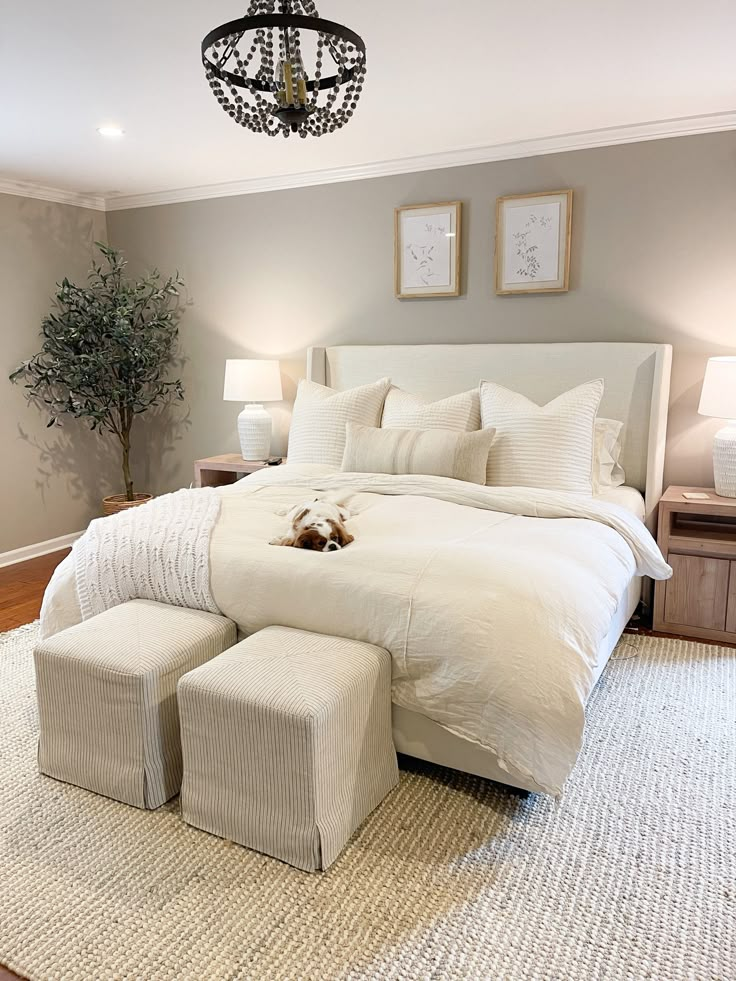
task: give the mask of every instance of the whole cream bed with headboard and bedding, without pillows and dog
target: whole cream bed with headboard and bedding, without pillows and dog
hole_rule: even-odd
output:
[[[668,574],[640,518],[653,528],[662,490],[670,359],[667,345],[626,343],[311,348],[307,372],[312,381],[347,390],[389,376],[393,384],[432,400],[471,389],[482,377],[545,403],[601,377],[601,414],[624,424],[628,487],[616,489],[613,504],[586,504],[544,491],[512,488],[511,493],[459,487],[460,481],[442,478],[342,475],[287,465],[218,495],[219,516],[211,541],[205,541],[211,593],[200,583],[200,592],[192,594],[200,597],[196,602],[182,594],[169,596],[177,578],[170,574],[163,598],[202,608],[211,602],[242,633],[283,623],[385,646],[394,656],[393,724],[400,752],[524,790],[559,794],[581,745],[585,701],[636,609],[642,574]],[[354,545],[336,560],[269,547],[283,520],[277,517],[278,506],[336,487],[348,487],[355,495]],[[169,497],[181,495],[180,506],[190,507],[192,501],[202,506],[202,492]],[[121,555],[159,555],[161,548],[157,551],[153,541],[180,540],[181,549],[166,552],[164,546],[163,552],[169,563],[179,561],[178,552],[183,552],[186,570],[179,568],[183,577],[189,574],[197,565],[196,535],[181,531],[181,514],[176,520],[167,517],[166,502],[161,498],[137,514],[128,512],[117,524],[93,523],[75,548],[76,556],[62,563],[49,586],[42,611],[47,634],[94,612],[93,601],[105,592],[103,585],[109,586],[110,569],[116,566],[110,543],[114,529],[130,526],[130,540],[117,553],[118,566],[128,561]],[[166,521],[179,531],[170,532]],[[449,530],[438,553],[424,541],[424,529],[433,528],[435,535],[440,526]],[[98,540],[91,550],[95,527]],[[204,527],[204,520],[198,517],[195,527]],[[404,554],[391,547],[397,529]],[[476,529],[478,541],[487,538],[488,547],[470,547],[475,532],[469,529]],[[462,548],[453,546],[461,540]],[[564,561],[568,542],[571,555],[578,553],[574,568]],[[485,598],[501,596],[507,588],[504,569],[496,566],[513,558],[515,548],[531,556],[525,560],[531,563],[529,575],[522,577],[530,582],[519,584],[501,618],[505,623],[489,620],[492,604]],[[201,566],[201,547],[197,554]],[[565,570],[565,582],[576,584],[567,591],[559,569]],[[100,570],[95,588],[86,581],[90,570]],[[118,578],[126,580],[129,592],[118,591],[117,600],[113,596],[108,603],[125,595],[162,598],[155,590],[146,592],[156,579],[150,569],[137,587],[127,569]],[[561,618],[549,633],[545,624],[551,623],[551,614],[535,619],[534,589],[542,590],[542,584],[550,593],[556,590],[551,609]],[[538,626],[528,627],[527,620]],[[507,651],[513,671],[506,670]],[[571,666],[569,678],[568,669],[560,669],[564,686],[556,678],[555,659]],[[544,711],[537,711],[535,699]]]

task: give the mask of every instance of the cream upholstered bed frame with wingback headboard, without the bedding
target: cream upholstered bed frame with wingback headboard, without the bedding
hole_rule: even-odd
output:
[[[667,407],[672,349],[668,344],[427,344],[312,347],[307,377],[347,389],[388,375],[393,384],[427,399],[441,399],[477,384],[498,381],[543,404],[590,378],[605,390],[600,414],[621,419],[626,487],[609,499],[643,519],[654,533],[663,490]],[[637,495],[643,496],[643,515]],[[649,594],[651,584],[647,583]],[[594,680],[603,672],[642,596],[642,579],[632,577],[621,597],[596,658]],[[528,774],[500,767],[494,753],[448,732],[425,715],[394,706],[394,742],[399,752],[453,769],[511,784],[541,788]]]

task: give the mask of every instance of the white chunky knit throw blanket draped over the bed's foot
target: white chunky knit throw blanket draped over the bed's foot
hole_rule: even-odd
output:
[[[203,487],[91,522],[73,552],[82,618],[131,599],[219,613],[209,557],[219,513],[219,494]]]

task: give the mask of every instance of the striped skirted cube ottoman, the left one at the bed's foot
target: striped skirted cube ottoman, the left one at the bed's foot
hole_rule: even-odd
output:
[[[176,683],[236,641],[214,613],[132,600],[34,651],[42,773],[136,807],[181,784]]]

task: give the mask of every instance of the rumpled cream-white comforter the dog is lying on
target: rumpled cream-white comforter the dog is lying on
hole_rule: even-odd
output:
[[[575,495],[295,471],[222,491],[210,542],[221,611],[245,633],[279,623],[387,648],[395,703],[558,794],[627,585],[671,574],[644,525]],[[316,553],[268,544],[284,530],[280,510],[323,491],[354,495],[352,545]],[[46,634],[80,619],[70,559],[49,586]]]

